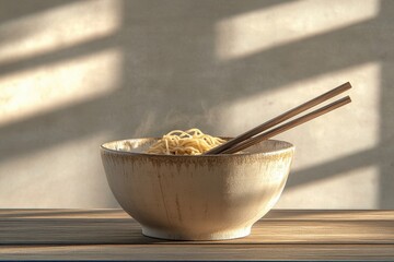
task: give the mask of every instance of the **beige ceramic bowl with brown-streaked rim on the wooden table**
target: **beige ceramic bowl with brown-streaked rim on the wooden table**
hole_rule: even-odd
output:
[[[268,140],[247,153],[211,156],[143,154],[155,139],[105,143],[101,155],[120,206],[154,238],[232,239],[278,201],[294,147]],[[131,152],[130,152],[131,151]]]

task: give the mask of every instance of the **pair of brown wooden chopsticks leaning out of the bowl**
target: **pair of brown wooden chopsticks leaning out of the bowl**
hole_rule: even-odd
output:
[[[271,120],[268,120],[248,131],[246,131],[243,134],[240,134],[239,136],[229,140],[228,142],[213,147],[212,150],[205,153],[205,155],[216,155],[216,154],[233,154],[236,152],[240,152],[242,150],[245,150],[254,144],[257,144],[264,140],[270,139],[274,135],[277,135],[279,133],[282,133],[289,129],[292,129],[301,123],[308,122],[316,117],[320,117],[326,112],[329,112],[338,107],[341,107],[346,104],[349,104],[351,102],[349,96],[346,96],[344,98],[340,98],[338,100],[335,100],[324,107],[321,107],[312,112],[309,112],[302,117],[299,117],[294,120],[291,120],[287,123],[283,123],[281,126],[278,126],[274,128],[275,126],[318,105],[323,102],[328,100],[329,98],[333,98],[334,96],[337,96],[341,93],[344,93],[347,90],[350,90],[351,85],[349,82],[339,85],[338,87],[335,87],[332,91],[328,91],[327,93],[324,93],[323,95],[320,95],[298,107],[294,107],[293,109],[290,109]],[[273,128],[273,129],[271,129]]]

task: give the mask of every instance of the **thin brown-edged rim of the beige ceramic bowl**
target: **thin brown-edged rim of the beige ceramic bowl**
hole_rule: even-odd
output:
[[[222,139],[231,139],[231,138],[227,138],[227,136],[220,136]],[[132,151],[120,151],[120,150],[112,150],[106,147],[107,144],[112,144],[112,143],[120,143],[120,142],[126,142],[126,141],[134,141],[134,140],[160,140],[161,138],[132,138],[132,139],[121,139],[121,140],[114,140],[114,141],[109,141],[109,142],[105,142],[102,143],[100,145],[100,150],[102,152],[107,152],[107,153],[112,153],[112,154],[120,154],[120,155],[128,155],[128,156],[144,156],[144,157],[165,157],[165,158],[209,158],[209,157],[242,157],[242,156],[257,156],[257,155],[264,155],[264,156],[268,156],[268,155],[277,155],[277,154],[281,154],[285,152],[294,152],[296,151],[296,146],[288,142],[288,141],[283,141],[283,140],[274,140],[274,139],[268,139],[268,140],[264,140],[263,142],[281,142],[285,143],[287,146],[280,150],[271,150],[271,151],[267,151],[267,152],[254,152],[254,153],[239,153],[239,154],[217,154],[217,155],[164,155],[164,154],[152,154],[152,153],[144,153],[144,152],[132,152]]]

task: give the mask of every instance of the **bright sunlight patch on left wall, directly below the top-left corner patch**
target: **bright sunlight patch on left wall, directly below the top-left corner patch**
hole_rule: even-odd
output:
[[[0,126],[114,92],[121,60],[109,49],[0,78]]]

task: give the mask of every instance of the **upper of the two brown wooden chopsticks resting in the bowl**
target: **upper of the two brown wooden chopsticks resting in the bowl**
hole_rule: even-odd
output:
[[[323,102],[334,97],[334,96],[337,96],[338,94],[340,93],[344,93],[345,91],[347,90],[350,90],[351,88],[351,85],[349,82],[345,83],[345,84],[341,84],[298,107],[294,107],[248,131],[246,131],[245,133],[243,134],[240,134],[239,136],[232,139],[232,140],[229,140],[228,142],[208,151],[205,153],[205,155],[215,155],[215,154],[220,154],[220,153],[223,153],[224,151],[228,151],[229,148],[231,147],[234,147],[236,144],[239,143],[245,143],[245,141],[247,141],[248,139],[251,139],[252,136],[258,134],[258,133],[262,133],[270,128],[273,128],[274,126],[276,124],[279,124],[318,104],[322,104]]]

